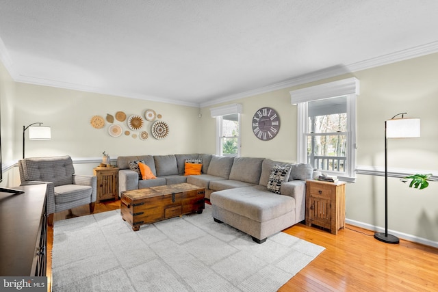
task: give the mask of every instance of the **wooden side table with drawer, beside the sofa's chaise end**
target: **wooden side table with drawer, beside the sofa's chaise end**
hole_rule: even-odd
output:
[[[320,226],[334,235],[345,227],[345,185],[343,181],[306,181],[307,226]]]

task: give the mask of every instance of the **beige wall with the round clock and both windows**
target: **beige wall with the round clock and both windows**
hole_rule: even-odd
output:
[[[408,172],[433,172],[438,175],[438,54],[417,57],[395,64],[353,72],[342,77],[299,85],[285,90],[242,98],[242,156],[268,157],[296,161],[296,107],[290,104],[289,91],[347,77],[361,81],[357,98],[357,165],[384,170],[384,121],[407,111],[407,117],[421,119],[422,136],[407,140],[389,140],[389,169]],[[216,107],[217,105],[214,105]],[[279,112],[281,130],[270,142],[258,140],[252,133],[251,119],[260,107]],[[209,108],[202,109],[209,116]],[[214,118],[205,121],[204,152],[214,152]],[[389,229],[406,233],[404,238],[438,246],[438,182],[423,190],[411,189],[399,178],[389,178]],[[356,183],[346,188],[346,212],[349,222],[385,226],[385,181],[383,176],[357,174]],[[422,239],[426,239],[423,241]]]

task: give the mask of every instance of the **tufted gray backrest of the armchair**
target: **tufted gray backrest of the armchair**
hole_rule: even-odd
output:
[[[73,183],[73,161],[70,156],[38,157],[23,160],[25,181],[49,181],[58,185]]]

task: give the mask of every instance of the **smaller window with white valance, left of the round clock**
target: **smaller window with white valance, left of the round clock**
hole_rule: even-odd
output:
[[[210,109],[216,118],[216,154],[240,156],[240,114],[242,105],[233,104]]]

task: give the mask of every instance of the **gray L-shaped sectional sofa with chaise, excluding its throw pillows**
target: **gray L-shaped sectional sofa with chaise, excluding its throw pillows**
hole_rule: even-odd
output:
[[[202,159],[201,175],[184,176],[186,159]],[[129,162],[138,160],[144,161],[157,178],[139,179],[138,173],[129,168]],[[290,168],[280,194],[267,188],[274,165]],[[214,220],[242,230],[258,243],[305,220],[305,180],[313,173],[308,164],[209,154],[125,156],[118,157],[117,166],[120,168],[119,194],[174,183],[204,187]]]

